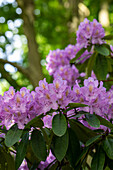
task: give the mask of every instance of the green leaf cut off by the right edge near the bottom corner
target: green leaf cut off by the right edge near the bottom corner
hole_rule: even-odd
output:
[[[110,159],[113,159],[113,139],[106,138],[103,141],[103,148]]]

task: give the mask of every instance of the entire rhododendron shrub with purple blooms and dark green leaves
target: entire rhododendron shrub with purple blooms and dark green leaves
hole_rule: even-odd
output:
[[[1,169],[112,169],[111,39],[85,19],[76,44],[48,54],[52,83],[0,96]]]

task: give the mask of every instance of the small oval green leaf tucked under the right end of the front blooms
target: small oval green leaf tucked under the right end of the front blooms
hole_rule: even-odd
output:
[[[88,124],[92,127],[99,128],[100,127],[100,121],[94,114],[86,114],[86,121]]]

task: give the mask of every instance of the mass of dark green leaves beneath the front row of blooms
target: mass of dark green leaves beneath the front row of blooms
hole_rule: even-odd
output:
[[[69,104],[68,110],[86,105],[79,103]],[[48,165],[47,169],[91,169],[103,170],[112,167],[113,159],[113,132],[91,130],[81,124],[77,119],[66,117],[66,110],[62,110],[53,117],[52,128],[44,128],[42,117],[39,115],[32,119],[23,130],[13,125],[6,133],[5,139],[0,141],[0,165],[2,169],[18,169],[25,158],[29,169],[35,169],[40,161],[45,161],[51,149],[56,159]],[[47,113],[48,114],[48,113]],[[104,125],[113,129],[113,124],[98,115],[87,112],[76,112],[73,118],[86,115],[86,121],[92,127]],[[32,128],[32,130],[31,130]],[[11,156],[16,156],[15,162]],[[91,157],[91,165],[88,157]]]

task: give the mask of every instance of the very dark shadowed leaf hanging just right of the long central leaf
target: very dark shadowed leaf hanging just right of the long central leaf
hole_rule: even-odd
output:
[[[72,167],[75,168],[76,159],[80,155],[80,143],[76,133],[71,128],[68,129],[68,133],[69,133],[69,146],[66,156]]]

